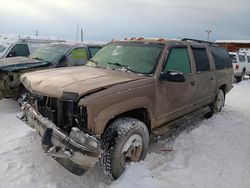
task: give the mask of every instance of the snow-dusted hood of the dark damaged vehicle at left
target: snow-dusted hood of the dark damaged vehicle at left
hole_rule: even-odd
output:
[[[49,64],[50,63],[48,62],[32,59],[29,57],[9,57],[0,59],[0,70],[11,72],[22,69],[48,66]]]

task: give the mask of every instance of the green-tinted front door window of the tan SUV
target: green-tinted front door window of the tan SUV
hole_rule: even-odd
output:
[[[191,73],[190,61],[187,48],[172,48],[167,58],[164,72],[176,70],[183,74]]]

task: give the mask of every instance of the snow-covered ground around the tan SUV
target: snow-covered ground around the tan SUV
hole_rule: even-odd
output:
[[[152,144],[145,161],[110,182],[97,167],[75,176],[46,156],[40,137],[16,118],[16,102],[0,101],[0,188],[36,187],[250,187],[250,80],[235,84],[223,111]],[[161,151],[168,148],[168,151]]]

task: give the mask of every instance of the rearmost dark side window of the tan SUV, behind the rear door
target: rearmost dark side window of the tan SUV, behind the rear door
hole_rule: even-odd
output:
[[[231,68],[232,63],[236,63],[236,55],[230,55],[224,48],[210,46],[216,69]]]

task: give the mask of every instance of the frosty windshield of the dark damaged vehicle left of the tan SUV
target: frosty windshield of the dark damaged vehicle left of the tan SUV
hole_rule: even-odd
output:
[[[42,59],[44,61],[55,64],[61,59],[61,57],[67,52],[68,49],[68,46],[48,45],[36,50],[33,54],[30,55],[30,57],[35,59]]]

